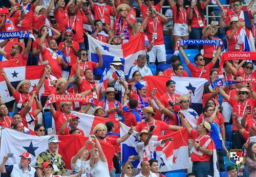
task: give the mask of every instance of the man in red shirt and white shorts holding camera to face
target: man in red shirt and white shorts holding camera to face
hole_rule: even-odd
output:
[[[146,29],[150,43],[154,46],[148,52],[150,64],[155,64],[156,57],[159,63],[166,64],[166,53],[163,39],[163,26],[167,18],[158,12],[155,8],[147,11],[147,16],[142,22],[143,29]]]

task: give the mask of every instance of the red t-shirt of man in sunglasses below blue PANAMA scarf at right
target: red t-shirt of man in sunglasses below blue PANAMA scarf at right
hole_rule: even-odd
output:
[[[214,63],[212,63],[212,62],[208,63],[207,65],[204,66],[203,70],[201,70],[199,67],[195,66],[191,62],[188,63],[187,67],[190,70],[191,76],[193,78],[205,78],[209,81],[210,80],[210,70],[212,67],[214,67]]]

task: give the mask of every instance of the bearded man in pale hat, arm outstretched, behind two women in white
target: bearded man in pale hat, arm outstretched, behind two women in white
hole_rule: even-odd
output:
[[[106,128],[106,125],[104,125],[103,123],[99,123],[94,127],[92,134],[95,135],[99,141],[103,141],[103,142],[111,144],[111,145],[116,145],[116,144],[120,144],[121,142],[124,142],[133,133],[133,128],[131,128],[131,129],[129,129],[129,132],[127,134],[123,135],[122,137],[111,138],[111,137],[105,137],[107,130],[108,129]],[[111,166],[110,176],[115,177],[116,170],[113,166],[113,162],[110,166]]]

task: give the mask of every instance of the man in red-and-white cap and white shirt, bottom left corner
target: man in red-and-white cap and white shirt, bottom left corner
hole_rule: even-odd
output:
[[[8,175],[10,177],[17,176],[31,176],[37,177],[35,168],[31,167],[29,164],[31,162],[32,156],[28,152],[22,153],[20,155],[19,164],[6,165],[6,161],[8,160],[7,155],[4,156],[4,159],[0,165],[0,172],[3,175]]]

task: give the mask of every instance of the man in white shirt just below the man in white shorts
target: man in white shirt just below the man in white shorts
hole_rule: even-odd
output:
[[[133,81],[132,79],[132,75],[135,71],[139,71],[141,74],[141,79],[143,79],[143,77],[145,75],[153,75],[151,69],[149,67],[147,67],[146,64],[146,56],[141,54],[138,56],[137,58],[137,65],[133,66],[130,68],[129,70],[129,79],[128,79],[128,83],[131,83]]]

